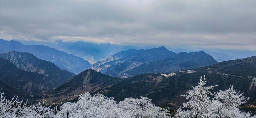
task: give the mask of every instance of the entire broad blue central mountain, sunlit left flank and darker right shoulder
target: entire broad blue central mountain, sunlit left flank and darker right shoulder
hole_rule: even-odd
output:
[[[121,51],[89,68],[113,77],[131,77],[142,73],[174,72],[216,63],[214,58],[203,51],[176,54],[165,47],[159,47]]]

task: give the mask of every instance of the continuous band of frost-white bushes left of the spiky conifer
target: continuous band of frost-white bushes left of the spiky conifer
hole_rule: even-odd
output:
[[[151,99],[126,98],[119,103],[102,94],[81,94],[77,103],[64,103],[59,110],[42,106],[41,103],[28,105],[17,98],[7,99],[1,93],[0,118],[167,118],[166,109],[154,106]]]

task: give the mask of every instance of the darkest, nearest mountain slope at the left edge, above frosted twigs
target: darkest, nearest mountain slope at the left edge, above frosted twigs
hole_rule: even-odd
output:
[[[2,83],[3,88],[8,89],[12,94],[19,95],[29,93],[30,95],[26,98],[39,95],[45,90],[54,87],[49,77],[39,74],[38,72],[28,72],[18,69],[10,61],[2,58],[0,58],[0,81],[14,87],[12,90],[11,86],[3,85]]]

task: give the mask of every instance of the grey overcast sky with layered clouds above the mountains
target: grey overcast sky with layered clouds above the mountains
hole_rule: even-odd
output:
[[[256,50],[256,0],[0,0],[0,38]]]

